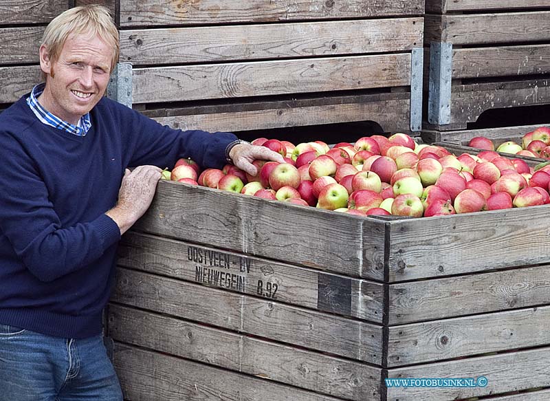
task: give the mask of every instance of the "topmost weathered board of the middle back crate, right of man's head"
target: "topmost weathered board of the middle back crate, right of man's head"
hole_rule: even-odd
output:
[[[423,0],[120,0],[122,27],[358,19],[422,15]]]

